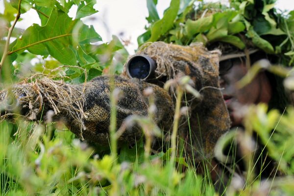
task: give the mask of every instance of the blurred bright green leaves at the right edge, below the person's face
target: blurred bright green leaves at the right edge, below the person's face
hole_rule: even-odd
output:
[[[260,104],[251,108],[250,117],[247,117],[251,121],[252,130],[258,133],[268,149],[270,157],[279,162],[279,170],[288,175],[294,174],[293,115],[293,107],[281,115],[277,110],[268,112],[268,107]]]

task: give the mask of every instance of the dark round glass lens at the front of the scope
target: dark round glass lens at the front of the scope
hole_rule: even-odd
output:
[[[132,77],[145,79],[150,72],[150,64],[143,56],[137,56],[129,63],[128,71]]]

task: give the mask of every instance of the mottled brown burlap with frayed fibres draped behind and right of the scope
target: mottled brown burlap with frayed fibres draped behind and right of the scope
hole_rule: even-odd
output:
[[[190,129],[188,121],[183,119],[179,133],[187,142],[186,153],[192,158],[192,151],[196,161],[203,157],[213,156],[214,146],[219,137],[229,129],[230,120],[219,84],[219,55],[218,51],[208,51],[202,44],[179,46],[155,42],[139,49],[138,54],[146,54],[157,62],[156,77],[172,79],[189,75],[194,81],[194,88],[202,95],[201,102],[187,95],[190,106]],[[123,73],[126,75],[126,73]],[[157,80],[151,81],[156,83]],[[174,98],[174,92],[170,91]],[[186,106],[183,98],[183,106]],[[173,100],[175,102],[175,100]],[[192,146],[191,147],[191,139]]]

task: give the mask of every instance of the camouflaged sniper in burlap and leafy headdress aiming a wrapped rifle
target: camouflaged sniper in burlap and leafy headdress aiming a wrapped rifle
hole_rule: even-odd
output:
[[[238,2],[231,6],[240,6]],[[176,135],[185,147],[186,161],[196,163],[192,165],[202,172],[201,162],[207,161],[221,190],[228,183],[227,167],[237,166],[240,175],[245,170],[245,152],[238,141],[246,137],[250,105],[266,103],[283,112],[294,103],[283,78],[270,71],[271,64],[284,66],[286,72],[285,67],[293,66],[293,59],[285,55],[293,50],[293,35],[285,33],[284,16],[273,9],[265,15],[260,6],[253,3],[239,13],[220,4],[191,5],[181,13],[184,21],[155,40],[147,29],[121,75],[102,75],[84,84],[33,76],[1,91],[1,118],[13,119],[18,113],[29,121],[63,121],[81,140],[108,146],[115,110],[118,147],[125,143],[132,147],[150,134],[152,149],[167,150],[162,141]],[[274,33],[261,29],[261,22],[274,24]],[[240,80],[253,65],[261,69],[242,86]],[[151,131],[144,122],[153,124]],[[261,150],[265,144],[258,135],[250,136],[256,142],[252,151],[267,153]],[[238,149],[235,160],[232,145]],[[271,157],[259,162],[266,177],[277,167]]]

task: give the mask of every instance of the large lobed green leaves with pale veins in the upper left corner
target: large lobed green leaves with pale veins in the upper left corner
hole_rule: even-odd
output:
[[[23,56],[29,55],[28,58],[31,58],[31,54],[35,54],[36,57],[41,55],[44,60],[38,57],[40,60],[38,68],[33,65],[28,66],[31,63],[27,62],[26,69],[52,74],[48,70],[50,66],[41,66],[40,64],[46,64],[45,58],[48,56],[53,57],[59,62],[58,67],[66,66],[60,68],[62,75],[68,76],[74,82],[83,82],[86,76],[88,79],[92,79],[100,75],[103,68],[112,64],[116,67],[116,72],[122,71],[122,65],[128,53],[119,39],[114,37],[111,43],[106,43],[104,46],[97,45],[95,43],[102,41],[101,37],[92,25],[84,25],[80,20],[80,18],[97,13],[97,10],[93,8],[95,0],[12,0],[11,3],[5,0],[5,11],[0,17],[7,22],[13,21],[14,17],[12,16],[17,13],[19,2],[21,2],[21,14],[29,9],[36,10],[41,25],[33,24],[25,31],[13,29],[12,36],[17,39],[9,45],[8,59],[1,69],[2,74],[7,74],[7,71],[3,73],[7,69],[9,74],[24,73],[21,66],[24,64]],[[73,5],[78,7],[75,20],[68,16],[69,9]],[[4,35],[7,35],[7,32],[5,33]],[[4,49],[5,43],[1,42],[0,44],[0,48]],[[100,53],[103,47],[111,48],[108,52],[109,55],[106,52]],[[115,56],[118,56],[117,53],[120,54],[120,59],[115,59]],[[114,63],[112,63],[113,60]],[[11,69],[12,62],[17,65],[14,66],[14,69]],[[54,67],[53,69],[58,68]]]

